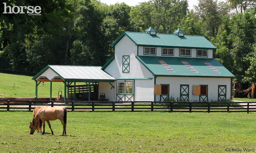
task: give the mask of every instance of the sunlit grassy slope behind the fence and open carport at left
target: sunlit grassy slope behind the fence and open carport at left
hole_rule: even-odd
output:
[[[33,77],[0,73],[0,78],[0,97],[35,97],[36,82],[31,80]],[[64,93],[63,82],[52,83],[52,97],[58,97],[58,91]],[[38,85],[38,97],[50,97],[50,82]]]

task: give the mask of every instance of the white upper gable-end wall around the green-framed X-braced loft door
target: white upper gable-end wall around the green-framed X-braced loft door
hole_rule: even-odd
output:
[[[130,56],[130,72],[123,73],[123,56]],[[115,59],[104,69],[105,72],[114,78],[153,78],[153,74],[148,71],[140,61],[136,59],[137,46],[130,38],[124,36],[115,45]]]

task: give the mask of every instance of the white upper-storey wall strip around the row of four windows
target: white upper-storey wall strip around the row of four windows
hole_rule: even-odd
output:
[[[156,47],[156,55],[143,55],[144,47],[139,46],[138,48],[138,55],[139,56],[162,56],[162,47]],[[186,57],[186,56],[179,56],[179,48],[174,48],[174,56],[166,56],[163,57]],[[196,57],[196,49],[191,49],[191,57],[188,58],[212,58],[212,49],[208,49],[208,57]]]

